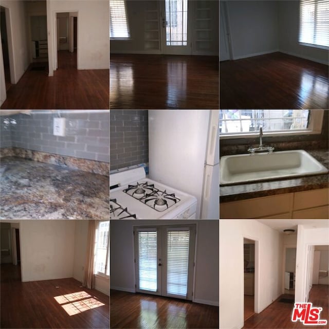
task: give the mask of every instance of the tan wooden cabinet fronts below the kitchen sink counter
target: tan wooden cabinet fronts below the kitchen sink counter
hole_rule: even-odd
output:
[[[329,189],[264,196],[220,204],[220,218],[327,219]]]

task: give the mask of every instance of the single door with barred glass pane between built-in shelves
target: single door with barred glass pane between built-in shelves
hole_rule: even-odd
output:
[[[163,0],[161,3],[161,46],[163,54],[192,53],[192,3]]]

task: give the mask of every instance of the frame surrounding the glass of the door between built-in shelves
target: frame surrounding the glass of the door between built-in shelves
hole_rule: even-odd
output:
[[[186,46],[167,46],[166,45],[166,27],[163,26],[163,20],[166,22],[166,1],[161,0],[159,3],[160,13],[160,51],[164,55],[192,55],[193,43],[193,11],[194,3],[187,0],[187,45]],[[185,48],[186,47],[186,48]]]

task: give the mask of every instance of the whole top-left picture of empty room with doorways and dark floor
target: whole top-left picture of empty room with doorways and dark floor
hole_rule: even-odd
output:
[[[5,109],[108,109],[106,0],[1,1]]]

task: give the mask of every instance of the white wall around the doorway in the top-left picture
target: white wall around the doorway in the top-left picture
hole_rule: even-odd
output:
[[[108,1],[49,0],[47,2],[49,76],[52,69],[56,69],[56,12],[78,12],[78,69],[108,69]]]

